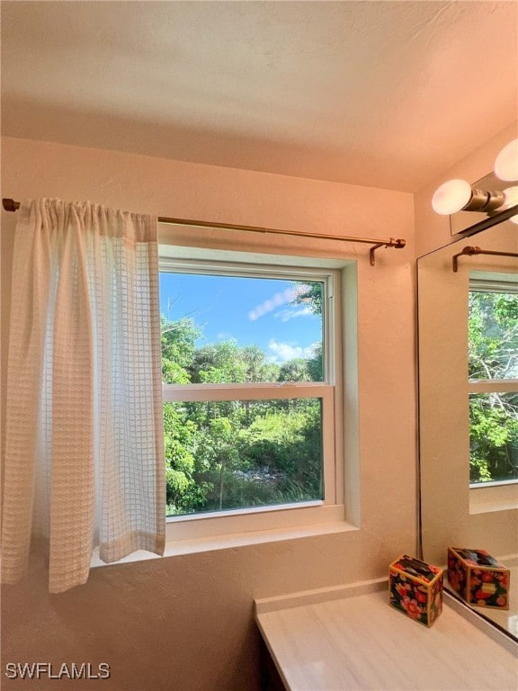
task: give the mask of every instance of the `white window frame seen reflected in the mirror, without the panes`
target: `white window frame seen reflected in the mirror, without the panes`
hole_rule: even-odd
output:
[[[518,293],[516,274],[494,272],[472,272],[469,277],[469,292]],[[478,379],[468,381],[468,392],[505,393],[518,391],[518,379]],[[469,483],[469,512],[507,510],[518,507],[518,480],[495,480]]]

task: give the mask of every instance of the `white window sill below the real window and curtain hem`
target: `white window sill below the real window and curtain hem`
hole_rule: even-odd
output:
[[[313,525],[271,528],[247,533],[210,535],[208,537],[199,537],[189,540],[168,539],[165,543],[164,557],[175,557],[182,554],[195,554],[198,552],[213,552],[215,550],[230,550],[255,544],[277,543],[283,540],[298,540],[305,537],[349,533],[356,530],[358,530],[358,528],[355,525],[346,523],[344,520],[332,520]],[[160,559],[160,557],[151,552],[140,550],[129,554],[127,557],[124,557],[124,559],[121,559],[121,561],[106,564],[99,559],[99,550],[95,549],[91,567],[116,566],[117,564],[129,563],[131,561],[147,561],[149,559]]]

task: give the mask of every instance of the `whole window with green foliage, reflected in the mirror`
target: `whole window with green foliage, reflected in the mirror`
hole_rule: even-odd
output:
[[[472,487],[518,480],[518,285],[495,275],[469,283]]]

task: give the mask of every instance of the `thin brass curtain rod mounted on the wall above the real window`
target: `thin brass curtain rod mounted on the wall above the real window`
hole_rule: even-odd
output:
[[[5,211],[18,211],[20,202],[14,202],[13,199],[3,199],[2,206]],[[314,238],[317,240],[341,240],[342,242],[362,242],[372,245],[370,250],[371,266],[374,266],[374,252],[379,247],[395,247],[401,249],[405,247],[406,240],[402,238],[390,238],[389,240],[374,240],[371,238],[347,238],[336,235],[317,235],[316,233],[305,233],[303,231],[296,232],[292,230],[280,230],[272,228],[259,228],[256,226],[240,226],[231,223],[216,223],[208,220],[192,220],[192,219],[171,219],[166,216],[158,216],[158,223],[165,223],[171,226],[195,226],[197,228],[217,228],[223,230],[243,230],[248,233],[271,233],[272,235],[290,235],[294,238]]]

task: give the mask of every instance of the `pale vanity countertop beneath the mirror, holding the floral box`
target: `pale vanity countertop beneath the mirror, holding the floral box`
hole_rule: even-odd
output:
[[[500,634],[487,635],[446,603],[426,628],[388,606],[382,582],[331,588],[328,597],[322,590],[257,600],[255,611],[290,691],[518,688],[518,646],[505,636],[498,642]]]

